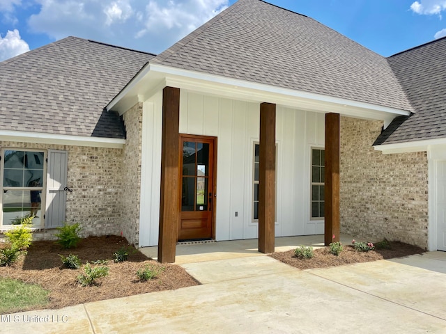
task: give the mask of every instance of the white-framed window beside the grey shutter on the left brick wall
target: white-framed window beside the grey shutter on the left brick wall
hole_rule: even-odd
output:
[[[33,225],[41,225],[45,152],[3,150],[1,161],[1,224],[15,225],[33,215]]]

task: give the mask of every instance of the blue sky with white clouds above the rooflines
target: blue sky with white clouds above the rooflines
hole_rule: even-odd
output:
[[[68,35],[159,53],[235,0],[0,0],[0,61]],[[269,0],[383,56],[446,36],[446,0]]]

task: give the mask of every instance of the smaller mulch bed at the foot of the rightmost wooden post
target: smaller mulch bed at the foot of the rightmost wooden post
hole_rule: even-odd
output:
[[[403,244],[399,241],[390,241],[390,249],[369,250],[369,252],[357,252],[353,246],[344,245],[344,250],[336,256],[330,253],[330,248],[318,248],[314,250],[314,257],[309,260],[295,257],[294,250],[287,252],[272,253],[270,256],[276,260],[289,264],[298,269],[312,269],[342,266],[360,262],[370,262],[376,260],[390,259],[392,257],[405,257],[413,254],[425,252],[422,248]]]

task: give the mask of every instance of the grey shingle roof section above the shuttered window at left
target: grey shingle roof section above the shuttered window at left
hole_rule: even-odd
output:
[[[155,55],[68,37],[0,63],[0,129],[123,138],[107,103]]]

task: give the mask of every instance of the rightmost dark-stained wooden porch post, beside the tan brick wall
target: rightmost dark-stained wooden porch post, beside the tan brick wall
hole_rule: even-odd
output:
[[[326,113],[325,246],[339,241],[339,233],[339,113]]]

